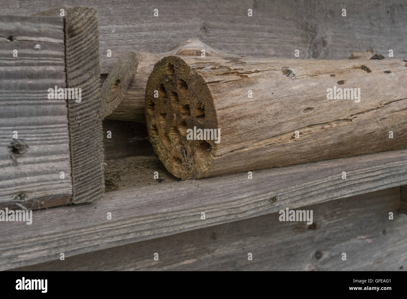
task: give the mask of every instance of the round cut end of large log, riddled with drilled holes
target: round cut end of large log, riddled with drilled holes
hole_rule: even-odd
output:
[[[195,140],[194,131],[217,129],[218,124],[212,96],[197,70],[176,56],[156,63],[147,82],[145,113],[151,143],[167,170],[182,179],[205,177],[216,144]]]

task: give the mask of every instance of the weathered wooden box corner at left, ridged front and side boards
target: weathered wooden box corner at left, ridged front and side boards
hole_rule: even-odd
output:
[[[31,17],[2,16],[0,34],[5,49],[0,57],[0,207],[101,199],[96,10],[61,7]]]

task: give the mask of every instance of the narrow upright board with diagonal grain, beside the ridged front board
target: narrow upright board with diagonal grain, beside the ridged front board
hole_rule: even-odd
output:
[[[68,100],[73,203],[103,198],[103,131],[100,95],[97,10],[60,7],[40,13],[65,17],[66,85],[81,89],[81,100]]]

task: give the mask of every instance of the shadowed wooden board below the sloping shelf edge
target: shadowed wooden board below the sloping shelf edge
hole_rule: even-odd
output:
[[[405,271],[407,217],[396,212],[399,197],[393,187],[302,207],[313,210],[312,225],[280,222],[275,213],[15,270]]]

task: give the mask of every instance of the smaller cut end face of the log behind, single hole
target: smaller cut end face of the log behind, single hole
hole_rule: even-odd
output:
[[[136,73],[136,67],[137,55],[130,52],[120,58],[109,72],[101,88],[103,118],[117,118],[113,112],[127,93],[133,80],[133,75]]]

